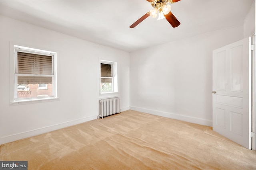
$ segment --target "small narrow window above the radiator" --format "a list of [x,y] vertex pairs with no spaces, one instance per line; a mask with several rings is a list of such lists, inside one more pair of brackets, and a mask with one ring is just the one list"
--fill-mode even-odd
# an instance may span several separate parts
[[117,92],[117,63],[100,61],[100,93]]

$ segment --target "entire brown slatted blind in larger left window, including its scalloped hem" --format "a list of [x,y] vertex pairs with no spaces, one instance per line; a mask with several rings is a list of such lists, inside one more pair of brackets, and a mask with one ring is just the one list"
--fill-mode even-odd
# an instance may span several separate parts
[[18,52],[18,84],[52,84],[52,76],[25,76],[24,74],[52,75],[52,56]]

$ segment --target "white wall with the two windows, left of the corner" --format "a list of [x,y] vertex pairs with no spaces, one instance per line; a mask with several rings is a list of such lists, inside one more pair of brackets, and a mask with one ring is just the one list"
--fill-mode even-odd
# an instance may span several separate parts
[[[56,51],[59,100],[9,102],[9,45]],[[0,144],[96,119],[99,58],[118,63],[121,110],[129,109],[130,54],[0,16]],[[115,95],[116,96],[116,95]]]

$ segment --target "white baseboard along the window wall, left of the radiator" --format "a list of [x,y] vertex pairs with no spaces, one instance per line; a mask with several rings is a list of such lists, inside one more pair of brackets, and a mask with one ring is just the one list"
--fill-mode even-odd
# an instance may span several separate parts
[[4,143],[13,142],[13,141],[18,141],[20,139],[24,139],[24,138],[27,138],[27,137],[40,135],[40,134],[47,133],[47,132],[50,132],[50,131],[55,131],[55,130],[58,130],[58,129],[62,129],[64,127],[77,125],[79,123],[84,123],[86,121],[90,121],[90,120],[94,120],[94,119],[97,119],[97,115],[90,116],[90,117],[84,117],[84,118],[81,118],[81,119],[76,119],[76,120],[73,120],[73,121],[68,121],[68,122],[64,122],[64,123],[60,123],[60,124],[52,125],[52,126],[48,126],[48,127],[42,127],[40,129],[34,129],[34,130],[31,130],[31,131],[17,133],[17,134],[9,135],[9,136],[6,136],[6,137],[1,137],[0,138],[0,145],[4,144]]

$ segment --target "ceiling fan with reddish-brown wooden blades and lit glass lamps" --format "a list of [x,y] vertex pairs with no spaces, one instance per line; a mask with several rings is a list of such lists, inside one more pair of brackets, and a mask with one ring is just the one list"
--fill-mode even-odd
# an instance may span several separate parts
[[139,23],[141,23],[143,20],[148,18],[148,16],[152,16],[153,18],[156,18],[157,14],[158,14],[158,20],[165,18],[172,25],[172,27],[178,27],[180,25],[180,22],[170,11],[171,10],[170,4],[173,4],[180,0],[147,0],[147,1],[150,2],[151,6],[154,9],[150,10],[144,16],[142,16],[140,19],[134,22],[130,26],[130,28],[136,27]]

